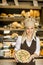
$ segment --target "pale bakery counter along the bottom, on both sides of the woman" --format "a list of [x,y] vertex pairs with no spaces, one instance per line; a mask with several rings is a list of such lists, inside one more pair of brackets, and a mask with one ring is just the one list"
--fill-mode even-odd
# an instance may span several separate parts
[[[37,57],[33,60],[35,65],[43,65],[43,57]],[[0,57],[0,65],[17,65],[14,58],[4,58]]]

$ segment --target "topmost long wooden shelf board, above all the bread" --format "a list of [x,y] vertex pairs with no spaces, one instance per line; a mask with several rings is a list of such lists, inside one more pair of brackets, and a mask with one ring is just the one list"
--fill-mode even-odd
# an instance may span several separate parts
[[41,7],[37,7],[37,6],[14,6],[14,5],[0,5],[0,8],[15,8],[15,9],[41,9]]

